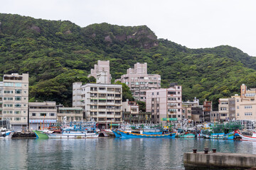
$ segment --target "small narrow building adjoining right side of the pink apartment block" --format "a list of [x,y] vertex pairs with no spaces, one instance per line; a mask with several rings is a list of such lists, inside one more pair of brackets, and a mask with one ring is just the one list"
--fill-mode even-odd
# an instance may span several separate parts
[[182,119],[191,120],[191,108],[199,106],[199,100],[195,97],[193,101],[182,102]]

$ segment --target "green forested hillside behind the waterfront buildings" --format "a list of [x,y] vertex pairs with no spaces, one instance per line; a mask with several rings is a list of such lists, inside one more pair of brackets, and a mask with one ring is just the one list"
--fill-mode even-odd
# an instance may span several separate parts
[[218,106],[218,98],[239,94],[240,85],[256,86],[256,60],[235,47],[189,49],[157,39],[146,26],[108,23],[85,28],[70,21],[46,21],[0,13],[0,77],[29,73],[30,101],[72,105],[72,83],[92,82],[97,60],[110,60],[114,79],[136,62],[161,75],[161,86],[183,86],[183,101],[195,96]]

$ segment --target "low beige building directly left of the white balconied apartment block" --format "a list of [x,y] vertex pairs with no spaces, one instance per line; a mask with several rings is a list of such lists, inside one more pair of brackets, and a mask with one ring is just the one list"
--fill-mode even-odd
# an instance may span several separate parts
[[80,122],[83,120],[82,108],[58,108],[58,122]]

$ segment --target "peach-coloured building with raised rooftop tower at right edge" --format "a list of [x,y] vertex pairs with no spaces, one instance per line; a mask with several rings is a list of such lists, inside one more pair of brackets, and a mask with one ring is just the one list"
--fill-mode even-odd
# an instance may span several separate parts
[[241,96],[235,98],[235,118],[237,120],[256,120],[256,89],[247,89],[245,84],[241,86]]

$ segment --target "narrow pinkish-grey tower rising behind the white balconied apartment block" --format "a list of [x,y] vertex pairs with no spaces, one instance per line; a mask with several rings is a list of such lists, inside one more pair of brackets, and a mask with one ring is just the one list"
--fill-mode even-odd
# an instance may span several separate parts
[[97,61],[88,77],[95,77],[97,84],[111,84],[110,61]]

